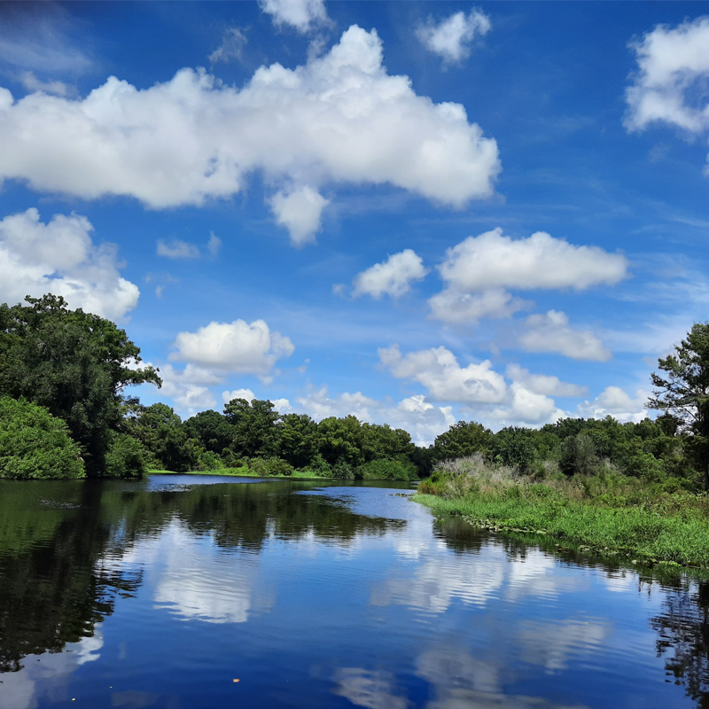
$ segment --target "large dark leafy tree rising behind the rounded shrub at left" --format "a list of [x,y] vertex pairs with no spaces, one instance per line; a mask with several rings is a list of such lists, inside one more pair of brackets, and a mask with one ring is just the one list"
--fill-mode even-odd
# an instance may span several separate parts
[[100,475],[125,388],[160,386],[158,372],[136,366],[140,349],[110,320],[70,310],[60,296],[25,300],[0,305],[0,395],[25,397],[64,419],[87,471]]

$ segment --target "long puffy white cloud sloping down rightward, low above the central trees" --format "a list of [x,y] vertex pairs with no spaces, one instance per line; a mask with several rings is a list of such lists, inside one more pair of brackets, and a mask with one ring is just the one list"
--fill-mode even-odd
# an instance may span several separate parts
[[489,360],[461,367],[446,347],[411,352],[402,356],[399,347],[380,348],[379,359],[396,378],[414,379],[426,387],[434,401],[463,403],[502,402],[507,384],[492,369]]

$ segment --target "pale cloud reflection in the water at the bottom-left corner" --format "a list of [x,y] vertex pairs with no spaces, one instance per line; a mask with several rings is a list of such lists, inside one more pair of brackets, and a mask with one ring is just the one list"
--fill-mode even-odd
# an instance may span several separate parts
[[[79,643],[68,643],[63,652],[27,655],[19,672],[2,674],[0,706],[3,709],[33,709],[41,685],[51,700],[66,698],[66,679],[74,670],[100,657],[104,646],[103,629],[97,623],[94,635]],[[39,661],[37,661],[39,660]],[[71,698],[71,697],[69,697]]]

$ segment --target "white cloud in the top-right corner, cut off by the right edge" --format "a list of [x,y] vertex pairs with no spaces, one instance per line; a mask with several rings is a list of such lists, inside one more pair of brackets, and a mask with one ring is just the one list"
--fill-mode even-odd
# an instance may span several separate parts
[[692,133],[709,129],[709,17],[658,25],[633,43],[638,71],[626,91],[626,127],[663,122]]

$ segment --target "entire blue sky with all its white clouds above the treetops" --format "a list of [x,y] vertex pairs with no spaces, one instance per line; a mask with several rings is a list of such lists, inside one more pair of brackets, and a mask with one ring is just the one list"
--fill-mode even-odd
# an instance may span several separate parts
[[646,415],[707,319],[693,3],[0,5],[0,300],[431,441]]

